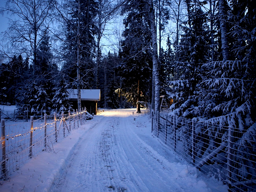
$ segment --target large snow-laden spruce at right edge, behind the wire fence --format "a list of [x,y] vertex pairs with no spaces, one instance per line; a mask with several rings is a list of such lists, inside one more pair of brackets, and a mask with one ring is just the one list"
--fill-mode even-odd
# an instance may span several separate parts
[[[240,15],[227,20],[227,15],[230,16],[238,7],[243,8]],[[208,119],[207,122],[244,130],[255,122],[255,8],[249,2],[245,5],[234,3],[230,12],[227,2],[221,0],[219,9],[222,51],[217,61],[205,64],[208,70],[202,82],[200,105],[206,110],[201,114]],[[228,23],[232,26],[227,26]]]

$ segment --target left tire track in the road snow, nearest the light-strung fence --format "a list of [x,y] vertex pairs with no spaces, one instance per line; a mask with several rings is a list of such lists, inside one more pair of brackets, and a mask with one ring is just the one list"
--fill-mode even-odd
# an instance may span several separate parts
[[[99,182],[98,162],[98,143],[101,133],[106,124],[104,117],[101,123],[94,126],[82,138],[75,147],[74,152],[69,158],[63,174],[52,187],[52,192],[65,191],[101,191]],[[96,170],[95,170],[96,168]]]

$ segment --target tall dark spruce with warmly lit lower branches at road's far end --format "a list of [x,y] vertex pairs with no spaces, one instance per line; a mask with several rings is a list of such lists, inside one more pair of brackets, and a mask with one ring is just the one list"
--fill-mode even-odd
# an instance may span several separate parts
[[121,58],[118,67],[122,79],[122,91],[128,101],[136,104],[136,113],[141,113],[139,101],[145,101],[149,90],[151,65],[151,34],[148,22],[147,2],[127,1],[124,12],[125,30],[123,32]]

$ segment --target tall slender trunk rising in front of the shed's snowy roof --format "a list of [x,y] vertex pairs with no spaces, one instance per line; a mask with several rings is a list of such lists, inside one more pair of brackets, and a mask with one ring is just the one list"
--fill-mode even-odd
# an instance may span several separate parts
[[77,24],[77,105],[78,111],[82,108],[81,106],[81,87],[80,87],[80,0],[78,0],[78,24]]

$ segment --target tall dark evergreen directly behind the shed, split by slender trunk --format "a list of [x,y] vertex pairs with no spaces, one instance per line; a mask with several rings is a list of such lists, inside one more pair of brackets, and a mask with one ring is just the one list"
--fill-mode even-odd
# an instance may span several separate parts
[[[94,52],[96,27],[94,26],[94,18],[96,16],[97,2],[94,0],[80,0],[79,12],[79,70],[80,70],[80,85],[82,88],[94,87]],[[66,60],[63,66],[63,72],[68,76],[68,81],[72,82],[70,88],[77,86],[77,69],[78,69],[78,2],[69,1],[67,4],[70,12],[70,18],[66,24],[66,40],[64,59]]]

